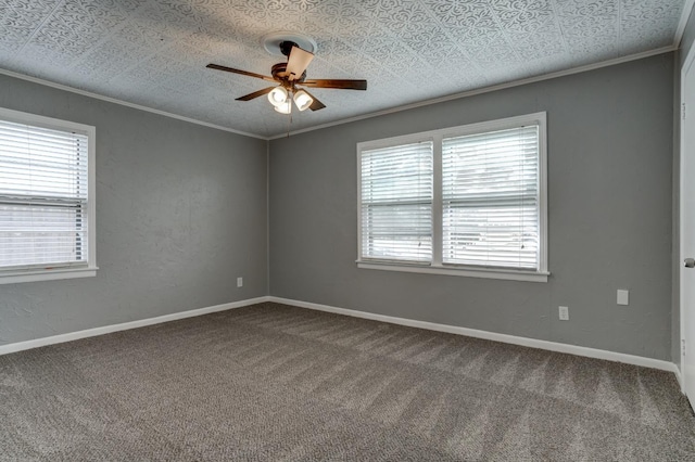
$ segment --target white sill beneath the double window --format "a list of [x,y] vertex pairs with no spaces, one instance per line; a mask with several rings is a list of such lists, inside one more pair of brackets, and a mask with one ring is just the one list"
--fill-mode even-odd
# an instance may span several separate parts
[[357,268],[382,271],[419,272],[424,274],[459,275],[466,278],[502,279],[507,281],[547,282],[549,272],[529,272],[501,269],[470,269],[456,267],[433,267],[421,265],[397,265],[384,261],[357,260]]

